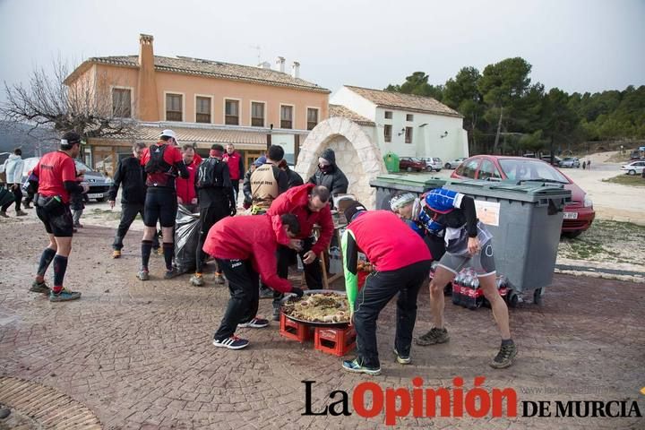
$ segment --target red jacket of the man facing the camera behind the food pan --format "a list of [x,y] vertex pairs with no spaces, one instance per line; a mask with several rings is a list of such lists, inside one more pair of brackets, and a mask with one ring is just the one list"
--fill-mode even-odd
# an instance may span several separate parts
[[285,213],[296,215],[300,223],[300,234],[297,236],[299,239],[311,236],[314,224],[318,224],[321,227],[321,235],[312,247],[314,254],[318,255],[329,246],[334,228],[329,204],[318,212],[309,211],[307,207],[309,193],[314,186],[316,185],[305,184],[289,188],[271,203],[271,208],[267,213],[269,215],[284,215]]

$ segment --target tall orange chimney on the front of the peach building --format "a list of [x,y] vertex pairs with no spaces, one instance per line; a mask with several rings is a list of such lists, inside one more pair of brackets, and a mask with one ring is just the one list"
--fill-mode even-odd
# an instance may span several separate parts
[[154,38],[149,34],[139,35],[139,79],[136,106],[138,107],[138,117],[142,121],[159,121],[152,40]]

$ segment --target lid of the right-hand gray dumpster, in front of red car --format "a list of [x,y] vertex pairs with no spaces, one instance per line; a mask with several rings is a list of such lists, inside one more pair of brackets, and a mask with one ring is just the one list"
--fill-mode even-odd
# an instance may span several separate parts
[[449,179],[445,188],[459,193],[486,197],[517,200],[520,202],[539,202],[549,198],[571,200],[571,191],[563,186],[544,181],[482,181],[478,179]]

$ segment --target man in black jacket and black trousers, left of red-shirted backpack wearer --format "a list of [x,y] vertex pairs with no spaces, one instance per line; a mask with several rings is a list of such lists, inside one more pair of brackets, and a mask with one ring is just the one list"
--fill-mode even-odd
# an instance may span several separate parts
[[[134,143],[133,156],[119,161],[116,168],[114,183],[109,191],[109,204],[110,208],[115,207],[116,193],[120,185],[123,185],[121,192],[121,221],[118,228],[116,228],[116,236],[114,244],[112,244],[113,258],[121,256],[121,249],[123,248],[123,239],[128,229],[132,225],[137,214],[141,214],[143,218],[143,202],[145,202],[145,182],[143,180],[143,166],[141,165],[142,150],[145,149],[145,144],[142,142]],[[159,248],[159,238],[157,235],[153,237],[155,249]]]

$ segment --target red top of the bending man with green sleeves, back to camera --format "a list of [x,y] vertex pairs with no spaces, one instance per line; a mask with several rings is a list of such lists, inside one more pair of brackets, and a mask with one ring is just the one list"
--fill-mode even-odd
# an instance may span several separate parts
[[[432,260],[423,239],[391,211],[367,211],[350,222],[348,230],[377,271],[396,271],[415,262]],[[343,249],[345,253],[351,251]]]

